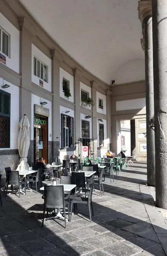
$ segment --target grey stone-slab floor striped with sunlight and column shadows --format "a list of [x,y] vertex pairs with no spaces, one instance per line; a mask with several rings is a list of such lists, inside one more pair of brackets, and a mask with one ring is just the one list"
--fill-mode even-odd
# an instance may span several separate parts
[[[146,164],[134,163],[114,182],[106,177],[104,194],[93,192],[93,221],[88,205],[78,205],[64,228],[63,221],[45,221],[41,229],[41,192],[1,192],[0,256],[165,256],[167,219],[154,207],[147,187]],[[166,253],[166,254],[165,254]]]

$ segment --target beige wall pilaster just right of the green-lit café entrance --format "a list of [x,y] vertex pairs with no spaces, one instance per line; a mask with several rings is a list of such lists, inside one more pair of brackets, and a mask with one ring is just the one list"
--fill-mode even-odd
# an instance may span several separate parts
[[59,69],[63,60],[62,55],[55,49],[51,51],[52,59],[52,145],[50,162],[57,161],[60,153],[60,85],[59,85]]

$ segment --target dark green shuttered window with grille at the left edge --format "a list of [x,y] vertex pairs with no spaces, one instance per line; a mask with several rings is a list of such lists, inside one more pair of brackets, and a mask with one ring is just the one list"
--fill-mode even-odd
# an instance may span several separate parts
[[0,148],[10,148],[11,95],[0,90]]

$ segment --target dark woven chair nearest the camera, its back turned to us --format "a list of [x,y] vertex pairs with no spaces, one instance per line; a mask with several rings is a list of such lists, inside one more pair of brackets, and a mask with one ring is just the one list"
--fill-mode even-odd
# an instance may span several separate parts
[[[43,208],[43,218],[42,218],[42,227],[45,218],[45,210],[46,220],[48,220],[48,209],[63,209],[64,211],[64,219],[65,219],[65,228],[66,228],[66,217],[65,217],[65,196],[64,196],[64,187],[62,186],[44,186],[44,208]],[[68,204],[69,207],[69,204]],[[69,209],[68,209],[69,212]]]

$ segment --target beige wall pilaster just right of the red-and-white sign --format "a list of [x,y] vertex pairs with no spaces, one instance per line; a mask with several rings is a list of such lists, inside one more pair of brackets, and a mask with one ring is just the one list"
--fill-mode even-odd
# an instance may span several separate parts
[[95,82],[95,81],[91,81],[91,87],[92,87],[92,99],[95,103],[95,105],[92,107],[92,139],[93,139],[93,143],[91,143],[91,150],[93,150],[92,152],[94,153],[93,156],[94,159],[96,159],[97,157],[97,136],[99,134],[99,131],[97,131],[97,104],[96,104],[96,91],[99,87],[99,85]]

